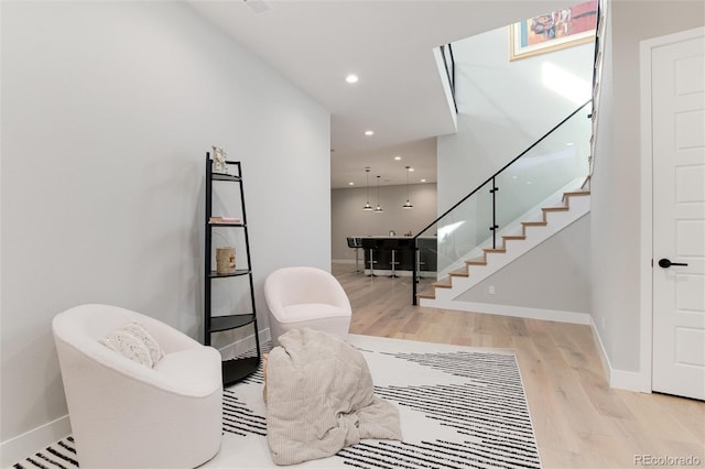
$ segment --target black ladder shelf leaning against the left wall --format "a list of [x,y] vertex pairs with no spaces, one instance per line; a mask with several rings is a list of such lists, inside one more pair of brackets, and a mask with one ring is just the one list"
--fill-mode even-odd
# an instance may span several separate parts
[[[239,161],[226,161],[228,173],[214,173],[210,154],[206,153],[206,210],[205,210],[205,293],[204,293],[204,343],[210,345],[212,335],[225,330],[238,329],[246,326],[253,328],[254,341],[257,343],[257,355],[242,358],[234,358],[223,361],[223,384],[228,386],[254,372],[260,364],[261,349],[257,328],[257,309],[254,307],[254,283],[252,280],[252,264],[250,262],[250,239],[247,230],[247,215],[245,211],[245,188],[242,187],[242,170]],[[216,183],[220,182],[220,183]],[[216,183],[216,184],[214,184]],[[240,188],[240,210],[241,220],[214,221],[213,217],[213,193],[214,185],[235,183]],[[237,269],[235,272],[218,273],[213,269],[213,230],[214,227],[239,230],[245,238],[246,268]],[[229,280],[228,280],[229,279]],[[213,296],[212,290],[215,282],[237,282],[247,279],[250,287],[250,309],[245,312],[231,312],[226,316],[212,316]]]

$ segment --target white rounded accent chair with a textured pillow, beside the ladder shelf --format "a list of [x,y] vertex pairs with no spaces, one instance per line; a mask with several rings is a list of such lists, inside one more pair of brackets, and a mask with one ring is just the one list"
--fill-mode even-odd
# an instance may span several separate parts
[[[154,368],[99,342],[131,321],[164,351]],[[108,305],[59,313],[52,328],[82,468],[193,468],[218,452],[223,372],[216,349]]]

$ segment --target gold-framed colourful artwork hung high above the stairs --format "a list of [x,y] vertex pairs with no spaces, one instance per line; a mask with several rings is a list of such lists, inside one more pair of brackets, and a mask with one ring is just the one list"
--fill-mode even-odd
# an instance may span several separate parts
[[509,26],[509,59],[595,41],[598,0],[529,18]]

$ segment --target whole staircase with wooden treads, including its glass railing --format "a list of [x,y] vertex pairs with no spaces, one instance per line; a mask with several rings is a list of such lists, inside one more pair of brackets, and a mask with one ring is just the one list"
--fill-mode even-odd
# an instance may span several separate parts
[[[589,211],[590,102],[414,236],[412,304],[473,310],[466,292]],[[435,283],[416,282],[422,264]]]

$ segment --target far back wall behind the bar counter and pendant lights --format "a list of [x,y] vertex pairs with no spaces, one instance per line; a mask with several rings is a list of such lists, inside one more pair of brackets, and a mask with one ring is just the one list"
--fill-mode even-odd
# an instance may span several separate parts
[[[387,236],[390,230],[397,236],[409,231],[417,234],[435,220],[435,184],[410,184],[409,198],[414,207],[401,208],[406,201],[406,186],[381,186],[379,203],[384,211],[375,214],[362,210],[367,200],[365,187],[332,190],[333,261],[355,262],[355,250],[348,248],[347,237]],[[377,186],[370,186],[370,205],[377,207]],[[362,252],[359,257],[362,260]]]

